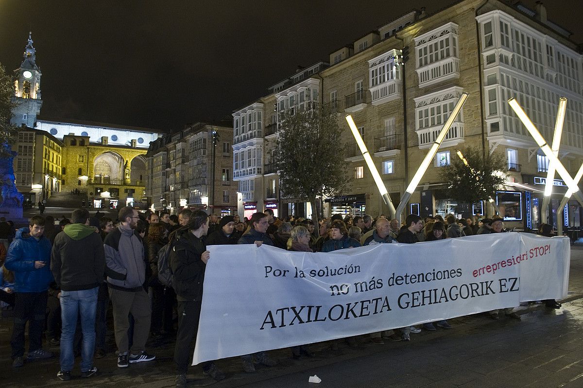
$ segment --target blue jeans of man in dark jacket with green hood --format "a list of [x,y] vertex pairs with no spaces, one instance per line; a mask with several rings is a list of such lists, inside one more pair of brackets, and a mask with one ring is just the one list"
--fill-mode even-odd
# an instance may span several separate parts
[[93,368],[95,348],[95,315],[99,287],[90,290],[61,291],[61,371],[70,372],[75,365],[73,339],[77,317],[81,317],[81,371]]

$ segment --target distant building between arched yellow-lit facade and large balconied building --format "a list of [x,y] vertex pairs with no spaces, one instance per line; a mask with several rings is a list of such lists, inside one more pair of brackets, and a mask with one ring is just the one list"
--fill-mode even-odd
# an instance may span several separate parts
[[236,213],[232,139],[232,123],[226,121],[195,123],[153,141],[146,155],[150,208]]

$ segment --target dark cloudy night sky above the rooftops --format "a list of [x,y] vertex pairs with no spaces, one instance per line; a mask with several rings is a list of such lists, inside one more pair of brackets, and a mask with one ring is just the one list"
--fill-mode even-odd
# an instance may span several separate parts
[[[547,14],[583,42],[573,19],[583,1],[570,2],[547,0]],[[20,66],[31,30],[41,116],[170,131],[230,118],[298,65],[328,60],[413,8],[433,13],[451,3],[0,0],[0,63],[9,72]]]

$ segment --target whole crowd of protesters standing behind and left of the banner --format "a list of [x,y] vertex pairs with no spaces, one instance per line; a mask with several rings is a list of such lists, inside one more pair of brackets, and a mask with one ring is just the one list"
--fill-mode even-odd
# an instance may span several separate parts
[[[29,226],[17,231],[0,218],[0,300],[14,312],[12,365],[24,365],[28,323],[27,362],[54,357],[43,349],[45,333],[48,344],[60,347],[59,379],[71,379],[76,355],[81,357],[81,377],[93,376],[97,372],[93,359],[107,353],[111,305],[117,366],[153,361],[156,356],[146,351],[147,340],[175,337],[175,385],[182,388],[187,385],[191,343],[198,330],[205,267],[212,259],[208,245],[266,244],[290,251],[332,252],[505,232],[501,218],[457,219],[452,214],[445,219],[411,214],[402,224],[384,215],[374,219],[333,215],[319,220],[318,226],[316,233],[310,219],[279,219],[271,209],[243,220],[238,215],[219,218],[189,209],[178,215],[158,215],[130,207],[120,209],[113,220],[103,213],[92,217],[86,209],[76,209],[70,219],[58,222],[52,216],[33,216]],[[539,234],[552,236],[552,226],[542,224]],[[163,273],[170,273],[170,278]],[[560,307],[554,300],[544,302],[549,308]],[[519,319],[512,308],[489,314],[498,319],[501,312]],[[371,333],[370,340],[375,344],[387,339],[409,341],[411,333],[437,328],[452,326],[445,320],[428,322],[422,328]],[[355,337],[346,342],[358,346]],[[339,343],[331,341],[331,348],[338,348]],[[291,355],[313,357],[314,352],[305,344],[291,348]],[[254,364],[277,364],[263,351],[241,356],[241,363],[248,373],[255,372]],[[214,362],[201,366],[211,378],[224,379]]]

